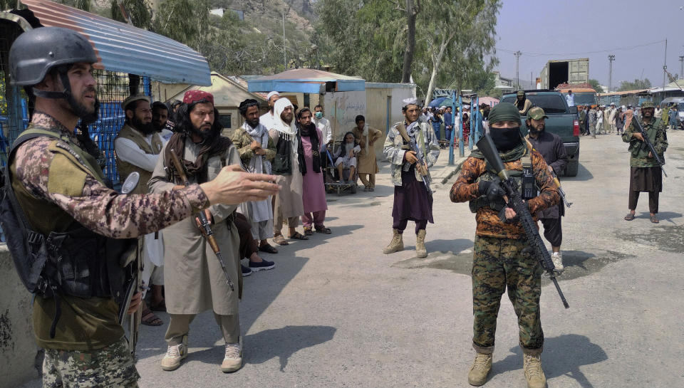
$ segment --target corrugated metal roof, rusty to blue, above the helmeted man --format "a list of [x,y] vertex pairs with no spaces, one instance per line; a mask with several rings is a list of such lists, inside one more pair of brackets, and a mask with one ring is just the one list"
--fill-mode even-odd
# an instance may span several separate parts
[[173,39],[52,1],[21,2],[43,26],[83,33],[106,70],[172,83],[212,84],[206,58]]

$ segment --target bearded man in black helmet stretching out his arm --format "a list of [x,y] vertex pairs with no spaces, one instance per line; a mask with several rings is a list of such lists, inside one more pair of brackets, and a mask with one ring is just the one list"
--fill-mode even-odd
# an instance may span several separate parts
[[[19,214],[42,236],[41,241],[53,236],[53,232],[78,231],[88,238],[69,236],[80,238],[77,242],[97,244],[99,249],[100,243],[163,229],[209,204],[238,204],[276,192],[274,184],[254,182],[275,177],[229,168],[212,182],[162,194],[120,195],[107,187],[99,165],[73,133],[79,119],[92,122],[98,117],[92,75],[97,61],[86,38],[67,28],[27,31],[14,41],[9,53],[12,84],[24,86],[35,98],[31,124],[21,136],[36,137],[15,142],[9,157],[10,176],[6,179],[10,179],[11,192],[19,203]],[[247,187],[237,190],[242,184]],[[16,231],[6,233],[17,236]],[[90,255],[90,245],[74,246],[64,241],[56,247],[54,243],[48,241],[60,256],[49,256],[51,268],[60,274],[71,273],[83,284],[98,284],[98,291],[110,293],[77,296],[69,293],[74,289],[69,278],[62,278],[59,283],[47,283],[55,298],[36,295],[33,331],[38,346],[46,350],[43,387],[137,387],[138,372],[118,321],[120,306],[112,291],[118,285],[111,279],[105,285],[101,273],[76,271],[75,266],[66,265],[86,264],[86,269],[97,265],[94,268],[103,269],[106,279],[108,273],[117,271],[109,265],[119,263],[119,258],[108,261],[102,256],[109,255],[100,250]],[[81,255],[83,251],[88,253],[87,258]],[[41,276],[54,278],[45,272]],[[128,313],[135,311],[139,303],[140,293]]]

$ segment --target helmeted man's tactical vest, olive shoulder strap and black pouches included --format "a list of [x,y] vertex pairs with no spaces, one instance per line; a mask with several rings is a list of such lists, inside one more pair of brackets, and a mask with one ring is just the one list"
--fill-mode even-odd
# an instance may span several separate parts
[[[16,271],[28,291],[55,300],[56,316],[50,329],[50,337],[53,338],[61,315],[60,295],[115,298],[121,305],[125,283],[132,271],[131,268],[123,268],[123,263],[130,262],[130,256],[136,253],[137,240],[107,238],[96,234],[56,204],[36,199],[26,191],[24,185],[12,182],[10,167],[16,149],[36,137],[58,139],[51,143],[51,152],[65,155],[103,184],[105,177],[95,158],[81,150],[71,139],[40,127],[28,127],[9,152],[2,176],[4,182],[0,185],[0,223]],[[42,216],[28,219],[26,214]],[[57,217],[61,231],[46,231],[44,224],[41,227],[46,215]]]

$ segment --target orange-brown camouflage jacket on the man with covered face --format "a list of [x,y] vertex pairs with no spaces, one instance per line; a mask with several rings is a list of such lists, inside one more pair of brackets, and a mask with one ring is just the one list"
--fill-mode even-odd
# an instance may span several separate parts
[[[522,159],[504,162],[504,168],[511,171],[522,171]],[[558,204],[560,196],[554,179],[549,174],[549,169],[544,162],[544,157],[537,151],[532,151],[532,170],[539,187],[539,195],[527,201],[529,211],[537,221],[537,212]],[[451,187],[450,199],[452,202],[465,202],[477,199],[480,196],[477,178],[487,172],[487,162],[484,159],[468,157],[463,162],[461,172],[456,182]],[[499,220],[499,212],[489,208],[480,207],[475,215],[477,221],[477,236],[496,238],[524,238],[525,232],[519,222],[504,223]]]

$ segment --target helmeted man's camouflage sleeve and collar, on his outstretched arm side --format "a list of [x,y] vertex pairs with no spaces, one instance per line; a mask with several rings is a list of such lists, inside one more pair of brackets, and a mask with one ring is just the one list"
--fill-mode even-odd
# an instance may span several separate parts
[[[163,229],[209,206],[207,195],[196,184],[162,194],[119,195],[59,151],[80,147],[70,130],[42,112],[33,115],[31,125],[53,130],[69,141],[36,137],[16,150],[14,179],[31,195],[22,207],[31,206],[31,201],[48,202],[95,233],[132,238]],[[52,147],[55,143],[60,147]],[[76,184],[62,184],[65,177]],[[48,229],[57,231],[61,226]]]

